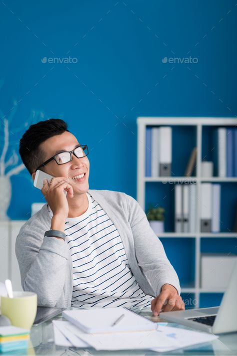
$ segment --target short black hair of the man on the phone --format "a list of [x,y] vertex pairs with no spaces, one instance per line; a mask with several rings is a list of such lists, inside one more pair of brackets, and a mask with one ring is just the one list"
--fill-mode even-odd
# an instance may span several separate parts
[[[45,152],[39,147],[40,143],[64,131],[68,131],[67,123],[61,119],[39,121],[25,131],[20,139],[19,154],[30,175],[45,160]],[[44,170],[44,167],[40,169]]]

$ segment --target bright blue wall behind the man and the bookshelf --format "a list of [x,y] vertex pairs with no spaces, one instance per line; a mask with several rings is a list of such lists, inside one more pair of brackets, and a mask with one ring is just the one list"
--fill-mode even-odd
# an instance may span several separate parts
[[[1,2],[1,124],[18,102],[8,156],[31,110],[60,117],[90,149],[90,188],[135,197],[137,116],[236,115],[235,3]],[[77,63],[41,62],[68,56]],[[189,56],[198,62],[161,62]],[[8,216],[28,219],[42,195],[26,169],[11,183]]]

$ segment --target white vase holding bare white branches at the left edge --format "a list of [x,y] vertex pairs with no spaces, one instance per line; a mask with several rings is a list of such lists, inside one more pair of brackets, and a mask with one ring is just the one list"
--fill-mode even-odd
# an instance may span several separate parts
[[9,177],[0,176],[0,220],[9,220],[6,215],[11,198],[11,184]]

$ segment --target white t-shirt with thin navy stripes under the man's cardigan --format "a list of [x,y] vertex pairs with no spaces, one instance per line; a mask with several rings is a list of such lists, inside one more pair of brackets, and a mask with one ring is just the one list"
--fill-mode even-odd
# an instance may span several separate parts
[[[117,229],[90,194],[86,196],[87,211],[65,220],[73,268],[71,306],[149,307],[153,298],[137,284]],[[52,217],[49,206],[48,213]]]

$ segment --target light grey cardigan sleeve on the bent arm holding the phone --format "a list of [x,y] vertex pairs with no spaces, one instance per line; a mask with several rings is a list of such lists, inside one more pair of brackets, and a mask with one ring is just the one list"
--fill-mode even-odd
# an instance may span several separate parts
[[39,226],[22,226],[15,254],[23,290],[36,293],[39,306],[54,307],[63,293],[68,247],[54,237],[43,237],[44,232]]

